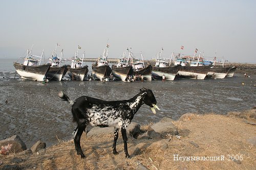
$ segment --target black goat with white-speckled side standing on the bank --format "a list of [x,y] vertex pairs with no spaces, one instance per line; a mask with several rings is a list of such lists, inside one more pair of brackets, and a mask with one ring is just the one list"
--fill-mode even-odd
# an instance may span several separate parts
[[125,157],[129,158],[126,128],[130,125],[134,114],[143,104],[150,106],[154,114],[156,114],[155,108],[159,110],[152,90],[145,88],[140,89],[140,92],[132,99],[123,101],[102,101],[90,96],[80,96],[72,101],[62,91],[58,93],[58,96],[72,105],[73,120],[77,123],[77,128],[73,133],[75,150],[81,158],[85,156],[81,150],[80,137],[89,123],[98,127],[114,127],[113,154],[115,155],[118,154],[116,141],[121,128]]

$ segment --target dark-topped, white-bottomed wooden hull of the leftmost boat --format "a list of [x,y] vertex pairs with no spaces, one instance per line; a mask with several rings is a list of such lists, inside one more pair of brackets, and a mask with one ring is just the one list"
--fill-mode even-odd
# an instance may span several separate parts
[[21,79],[35,81],[44,81],[44,78],[50,69],[50,64],[27,66],[15,62],[13,66]]

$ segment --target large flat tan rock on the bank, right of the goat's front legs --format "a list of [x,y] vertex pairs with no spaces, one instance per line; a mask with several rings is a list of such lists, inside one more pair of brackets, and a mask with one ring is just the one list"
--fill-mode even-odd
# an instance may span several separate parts
[[168,138],[168,134],[169,135],[178,135],[178,130],[177,128],[173,125],[172,122],[166,122],[165,121],[166,118],[164,118],[161,122],[158,122],[156,124],[153,124],[151,126],[151,128],[156,131],[157,133],[159,133],[162,137],[164,138]]

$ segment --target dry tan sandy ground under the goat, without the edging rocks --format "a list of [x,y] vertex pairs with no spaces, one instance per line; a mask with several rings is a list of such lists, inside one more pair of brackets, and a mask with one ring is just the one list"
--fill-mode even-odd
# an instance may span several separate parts
[[[248,139],[256,137],[256,127],[246,124],[244,119],[206,114],[173,123],[179,129],[180,139],[175,136],[161,140],[129,137],[131,159],[124,158],[121,137],[117,141],[120,154],[113,155],[113,135],[83,136],[81,146],[86,159],[76,155],[71,140],[37,154],[0,156],[3,162],[0,168],[15,164],[23,169],[138,169],[141,166],[148,169],[255,169],[256,149]],[[135,154],[138,149],[139,155]],[[238,160],[232,160],[236,156]],[[189,160],[183,160],[184,157]],[[200,160],[195,160],[197,157]],[[210,157],[219,157],[219,160],[209,160]]]

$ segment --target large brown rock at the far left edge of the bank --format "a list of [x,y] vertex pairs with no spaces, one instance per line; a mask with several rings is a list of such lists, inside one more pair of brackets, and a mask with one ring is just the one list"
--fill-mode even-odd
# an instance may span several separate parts
[[26,144],[20,139],[18,135],[13,135],[10,138],[0,141],[0,147],[11,145],[10,153],[19,153],[27,150]]

